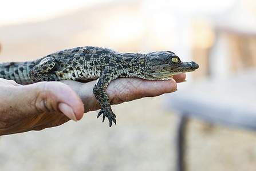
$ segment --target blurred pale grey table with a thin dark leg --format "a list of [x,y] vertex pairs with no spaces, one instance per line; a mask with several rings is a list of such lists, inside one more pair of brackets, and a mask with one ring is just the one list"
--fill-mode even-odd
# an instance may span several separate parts
[[177,131],[178,170],[184,170],[186,120],[194,117],[211,124],[256,131],[256,70],[229,79],[208,79],[166,96],[166,106],[180,114]]

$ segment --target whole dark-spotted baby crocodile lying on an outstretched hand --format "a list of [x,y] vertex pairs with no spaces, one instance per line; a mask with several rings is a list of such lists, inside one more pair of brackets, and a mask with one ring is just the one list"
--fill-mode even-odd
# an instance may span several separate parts
[[88,82],[99,79],[93,94],[103,114],[116,124],[116,115],[111,109],[105,89],[116,78],[141,78],[168,80],[173,75],[194,71],[195,62],[182,62],[171,51],[155,51],[148,54],[119,53],[108,48],[83,46],[58,51],[41,59],[29,62],[0,63],[0,78],[11,79],[19,84],[42,81],[76,80]]

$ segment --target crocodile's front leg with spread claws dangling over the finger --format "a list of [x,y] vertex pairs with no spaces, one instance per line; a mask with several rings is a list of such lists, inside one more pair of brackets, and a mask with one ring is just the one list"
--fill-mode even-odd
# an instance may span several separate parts
[[105,120],[105,117],[107,117],[108,121],[109,121],[109,127],[112,126],[112,121],[113,121],[113,123],[116,124],[116,115],[115,115],[115,113],[113,113],[113,111],[111,109],[108,95],[105,90],[106,90],[108,84],[111,82],[111,80],[117,78],[117,76],[114,76],[114,75],[116,75],[116,74],[109,73],[109,70],[104,71],[103,74],[101,74],[98,82],[93,87],[93,94],[101,106],[101,109],[97,115],[97,118],[99,118],[100,115],[103,114],[103,122]]

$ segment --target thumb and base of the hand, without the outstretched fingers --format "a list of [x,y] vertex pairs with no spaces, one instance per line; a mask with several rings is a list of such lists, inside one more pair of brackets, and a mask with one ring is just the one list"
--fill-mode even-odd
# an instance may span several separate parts
[[21,86],[0,79],[0,96],[0,135],[55,127],[84,113],[77,93],[60,82]]

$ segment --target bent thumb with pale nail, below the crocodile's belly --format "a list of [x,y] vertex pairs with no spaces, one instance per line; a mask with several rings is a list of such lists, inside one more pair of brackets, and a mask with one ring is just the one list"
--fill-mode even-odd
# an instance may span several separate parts
[[76,92],[60,82],[40,82],[27,86],[17,86],[20,110],[26,115],[42,112],[62,112],[72,120],[80,120],[84,104]]

